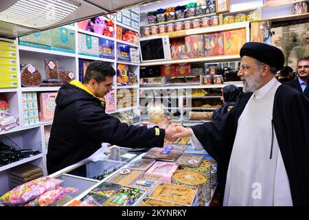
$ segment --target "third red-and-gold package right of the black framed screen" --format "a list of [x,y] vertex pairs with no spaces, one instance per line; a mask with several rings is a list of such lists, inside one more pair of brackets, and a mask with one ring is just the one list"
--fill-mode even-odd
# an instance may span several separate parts
[[205,56],[221,56],[224,54],[224,34],[215,32],[204,34]]

